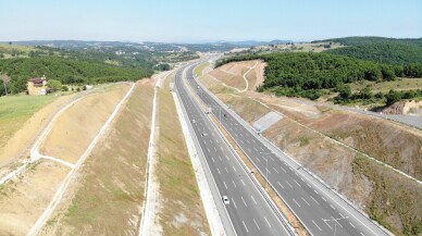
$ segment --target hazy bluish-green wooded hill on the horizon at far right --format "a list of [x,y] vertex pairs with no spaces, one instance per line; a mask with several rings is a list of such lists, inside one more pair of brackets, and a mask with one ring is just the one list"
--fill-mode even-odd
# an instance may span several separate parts
[[331,54],[348,55],[386,64],[422,63],[422,38],[347,37],[314,42],[338,42],[347,46],[325,51],[325,53]]

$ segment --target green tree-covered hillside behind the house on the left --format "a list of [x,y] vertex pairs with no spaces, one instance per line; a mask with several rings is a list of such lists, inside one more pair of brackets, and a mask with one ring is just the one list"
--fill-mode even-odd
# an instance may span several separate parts
[[8,90],[16,94],[26,89],[28,78],[42,75],[46,75],[47,79],[58,79],[63,84],[96,84],[136,80],[151,75],[152,71],[57,57],[39,57],[0,60],[0,74],[11,77],[11,82],[7,84]]

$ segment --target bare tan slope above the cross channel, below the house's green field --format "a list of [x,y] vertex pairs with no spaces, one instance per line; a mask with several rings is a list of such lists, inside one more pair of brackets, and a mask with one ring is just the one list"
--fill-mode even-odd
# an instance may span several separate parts
[[75,163],[129,88],[125,84],[117,86],[122,89],[91,95],[67,109],[57,120],[40,153]]

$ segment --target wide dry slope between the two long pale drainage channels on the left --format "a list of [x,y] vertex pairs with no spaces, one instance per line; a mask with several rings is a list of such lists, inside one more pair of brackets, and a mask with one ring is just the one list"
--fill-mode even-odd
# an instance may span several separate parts
[[153,87],[136,85],[40,235],[137,235]]

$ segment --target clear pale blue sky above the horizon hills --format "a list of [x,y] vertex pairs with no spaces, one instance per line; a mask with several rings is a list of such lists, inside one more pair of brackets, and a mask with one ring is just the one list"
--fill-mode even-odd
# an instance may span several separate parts
[[0,41],[422,37],[422,0],[0,0]]

